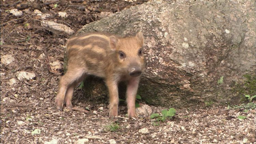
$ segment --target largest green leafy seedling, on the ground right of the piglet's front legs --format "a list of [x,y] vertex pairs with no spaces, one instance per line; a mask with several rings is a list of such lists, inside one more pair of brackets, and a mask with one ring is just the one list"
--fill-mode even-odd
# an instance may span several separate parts
[[174,108],[170,108],[169,111],[166,109],[161,111],[161,115],[158,113],[153,113],[150,115],[150,118],[156,118],[155,122],[153,125],[159,125],[160,121],[165,121],[168,118],[172,118],[176,114],[176,110]]

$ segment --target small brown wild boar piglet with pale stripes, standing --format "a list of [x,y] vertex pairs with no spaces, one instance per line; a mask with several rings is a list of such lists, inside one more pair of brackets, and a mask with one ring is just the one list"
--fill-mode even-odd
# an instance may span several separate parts
[[[128,115],[137,117],[135,98],[139,75],[145,67],[143,54],[140,53],[143,45],[144,38],[141,32],[134,37],[125,38],[110,33],[86,33],[69,39],[67,42],[68,71],[60,78],[55,100],[57,109],[62,110],[64,104],[69,109],[72,108],[74,87],[86,75],[91,74],[105,79],[109,89],[111,118],[117,116],[119,101],[117,85],[120,81],[127,81]],[[134,69],[139,73],[136,76],[131,75]]]

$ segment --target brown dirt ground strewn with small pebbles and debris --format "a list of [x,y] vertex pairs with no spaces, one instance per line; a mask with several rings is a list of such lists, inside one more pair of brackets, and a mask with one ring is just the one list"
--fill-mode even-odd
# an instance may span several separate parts
[[[58,34],[41,26],[45,20],[65,24],[74,31],[101,19],[101,12],[118,12],[146,0],[1,0],[1,58],[11,55],[10,64],[1,61],[1,143],[256,143],[256,110],[198,106],[177,109],[176,116],[155,125],[149,117],[108,118],[108,102],[73,100],[73,111],[57,111],[54,105],[59,76],[63,74],[65,44],[71,35]],[[56,5],[57,4],[57,5]],[[14,16],[10,10],[23,12]],[[67,12],[61,17],[58,12]],[[54,69],[53,62],[61,67]],[[18,80],[18,72],[35,74],[31,80]],[[16,82],[12,83],[12,80]],[[81,95],[77,88],[74,95]],[[143,97],[143,96],[142,96]],[[122,107],[122,106],[121,106]],[[123,106],[124,107],[124,106]],[[174,107],[175,108],[175,107]],[[88,111],[86,111],[87,109]],[[156,107],[159,112],[164,107]],[[238,116],[246,116],[238,119]],[[108,126],[118,124],[119,129]],[[144,129],[145,128],[145,129]],[[144,130],[144,131],[143,131]]]

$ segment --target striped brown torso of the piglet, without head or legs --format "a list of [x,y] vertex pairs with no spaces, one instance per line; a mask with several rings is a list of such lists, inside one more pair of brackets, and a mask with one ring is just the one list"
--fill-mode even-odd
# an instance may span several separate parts
[[104,77],[106,61],[110,58],[108,33],[86,33],[75,36],[67,42],[69,65],[80,65],[86,68],[88,74]]

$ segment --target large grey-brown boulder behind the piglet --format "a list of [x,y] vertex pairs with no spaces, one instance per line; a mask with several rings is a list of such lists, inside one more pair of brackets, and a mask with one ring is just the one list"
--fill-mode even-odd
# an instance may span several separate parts
[[[138,93],[149,104],[183,107],[244,97],[236,87],[243,88],[244,74],[255,76],[255,27],[255,1],[152,0],[87,24],[78,34],[142,31],[147,68]],[[108,93],[102,80],[87,80],[86,96]]]

